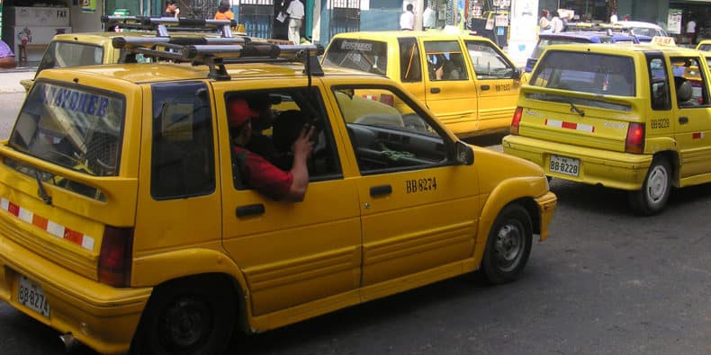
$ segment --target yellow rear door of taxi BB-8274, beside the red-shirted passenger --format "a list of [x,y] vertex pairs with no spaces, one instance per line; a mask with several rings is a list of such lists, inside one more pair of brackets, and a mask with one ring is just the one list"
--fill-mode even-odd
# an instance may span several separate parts
[[[213,84],[220,129],[223,245],[247,282],[251,314],[274,314],[268,321],[272,325],[302,319],[316,308],[358,302],[361,227],[356,183],[343,177],[319,84],[314,80],[311,93],[306,79],[270,80],[269,90],[242,85],[235,91],[234,82]],[[247,147],[285,171],[291,169],[291,161],[284,161],[290,159],[291,144],[284,141],[288,134],[277,136],[277,131],[290,131],[284,126],[289,122],[300,130],[305,122],[317,120],[319,144],[311,156],[311,179],[302,202],[273,200],[240,175],[238,159],[231,160],[225,119],[226,102],[235,98],[268,101],[275,111],[274,127],[252,138],[262,143]],[[259,124],[252,120],[257,129]]]

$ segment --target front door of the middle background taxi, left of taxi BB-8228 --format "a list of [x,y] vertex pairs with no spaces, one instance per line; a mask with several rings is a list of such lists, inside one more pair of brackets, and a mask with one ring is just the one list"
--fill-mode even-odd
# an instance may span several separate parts
[[514,78],[516,67],[489,41],[465,40],[465,44],[479,97],[478,129],[506,129],[516,110],[521,85]]

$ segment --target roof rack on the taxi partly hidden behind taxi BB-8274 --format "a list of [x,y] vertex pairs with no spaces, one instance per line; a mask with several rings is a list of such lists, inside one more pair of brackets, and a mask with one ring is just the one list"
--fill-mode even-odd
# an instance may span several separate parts
[[175,17],[148,16],[110,16],[103,15],[101,21],[106,24],[106,31],[137,30],[156,31],[158,37],[167,37],[168,31],[217,32],[221,37],[230,38],[235,20],[186,19]]

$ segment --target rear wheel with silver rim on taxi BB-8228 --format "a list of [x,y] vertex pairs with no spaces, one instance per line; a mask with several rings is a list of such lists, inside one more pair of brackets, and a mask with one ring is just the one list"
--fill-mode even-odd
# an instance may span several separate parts
[[652,216],[667,205],[671,193],[671,164],[655,157],[644,177],[642,189],[629,192],[630,207],[643,216]]

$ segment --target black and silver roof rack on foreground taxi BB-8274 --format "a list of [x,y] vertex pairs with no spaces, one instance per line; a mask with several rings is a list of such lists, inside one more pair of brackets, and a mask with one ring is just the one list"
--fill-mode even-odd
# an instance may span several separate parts
[[242,37],[116,37],[112,40],[112,45],[115,49],[124,49],[144,57],[190,62],[193,66],[208,66],[209,77],[215,80],[229,80],[225,65],[237,63],[302,63],[310,84],[311,75],[323,75],[316,58],[324,52],[320,44],[280,45]]

